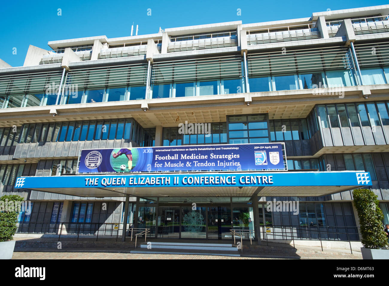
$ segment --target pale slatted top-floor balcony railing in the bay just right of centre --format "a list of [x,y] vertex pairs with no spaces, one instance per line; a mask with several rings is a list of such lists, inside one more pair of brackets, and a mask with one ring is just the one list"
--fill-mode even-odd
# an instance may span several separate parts
[[272,32],[269,29],[267,29],[267,32],[266,30],[258,31],[258,29],[248,30],[247,44],[259,45],[259,44],[268,44],[268,43],[277,43],[277,42],[320,39],[321,35],[319,29],[313,28],[314,25],[315,24],[304,24],[304,25],[278,27],[277,30],[284,30],[284,31],[274,31],[274,32]]

